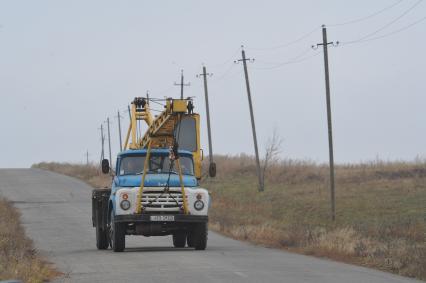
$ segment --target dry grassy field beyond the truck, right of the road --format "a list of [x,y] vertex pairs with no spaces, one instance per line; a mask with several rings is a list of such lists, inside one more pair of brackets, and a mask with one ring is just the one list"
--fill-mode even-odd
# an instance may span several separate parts
[[[257,192],[248,156],[216,156],[218,175],[202,180],[213,197],[210,228],[236,239],[374,267],[426,280],[426,162],[336,167],[336,221],[330,220],[328,167],[279,161]],[[94,167],[35,167],[106,186]],[[207,167],[207,166],[205,166]]]

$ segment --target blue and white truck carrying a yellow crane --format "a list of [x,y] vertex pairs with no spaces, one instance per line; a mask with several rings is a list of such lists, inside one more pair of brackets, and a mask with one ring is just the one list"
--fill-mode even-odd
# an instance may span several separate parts
[[[154,117],[152,101],[156,100],[132,101],[129,129],[115,167],[107,159],[101,162],[112,183],[111,188],[92,191],[96,246],[122,252],[128,235],[172,235],[176,248],[205,250],[211,200],[199,186],[199,114],[193,113],[191,98],[167,98],[162,100],[164,110]],[[142,135],[143,122],[148,128]]]

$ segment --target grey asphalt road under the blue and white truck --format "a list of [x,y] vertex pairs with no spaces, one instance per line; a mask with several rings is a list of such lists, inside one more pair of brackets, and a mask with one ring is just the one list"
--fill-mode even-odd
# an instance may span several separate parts
[[22,212],[27,234],[65,275],[57,282],[418,282],[367,268],[256,247],[210,232],[207,250],[171,237],[127,236],[123,253],[99,251],[91,188],[37,169],[1,169],[0,196]]

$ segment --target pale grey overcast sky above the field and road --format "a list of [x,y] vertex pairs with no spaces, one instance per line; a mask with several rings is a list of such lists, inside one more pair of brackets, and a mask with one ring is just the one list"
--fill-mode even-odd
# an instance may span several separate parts
[[[181,69],[191,82],[185,96],[195,97],[202,115],[207,152],[202,81],[195,77],[202,63],[214,74],[214,152],[252,154],[242,65],[233,63],[242,44],[256,59],[249,76],[262,154],[276,128],[282,157],[326,162],[323,57],[321,49],[309,50],[322,41],[321,24],[329,26],[329,41],[344,43],[425,16],[426,3],[417,0],[1,0],[0,167],[83,162],[86,150],[98,161],[98,128],[107,116],[116,154],[117,110],[147,90],[178,97],[173,83]],[[353,23],[333,26],[346,22]],[[425,29],[423,21],[393,36],[330,47],[337,162],[426,156]],[[282,64],[289,60],[300,62]]]

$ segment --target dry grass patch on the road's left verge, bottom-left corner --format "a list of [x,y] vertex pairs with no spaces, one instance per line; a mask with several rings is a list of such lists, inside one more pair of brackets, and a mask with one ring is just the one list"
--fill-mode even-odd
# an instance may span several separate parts
[[37,255],[19,218],[17,209],[0,199],[0,280],[45,282],[55,278],[59,273]]

